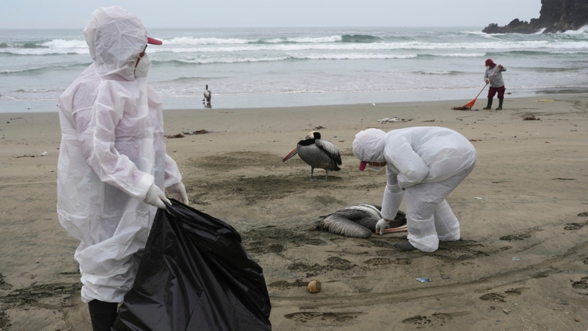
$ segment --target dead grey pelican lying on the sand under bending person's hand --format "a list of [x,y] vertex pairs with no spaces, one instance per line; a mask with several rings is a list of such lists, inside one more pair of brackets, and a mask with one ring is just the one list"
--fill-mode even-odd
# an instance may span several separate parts
[[[324,230],[330,233],[341,234],[346,237],[369,238],[372,232],[376,232],[376,223],[382,219],[380,210],[382,207],[373,204],[358,204],[349,206],[327,216],[320,216],[311,230]],[[393,221],[390,221],[390,229],[385,233],[406,231],[406,213],[398,211]]]

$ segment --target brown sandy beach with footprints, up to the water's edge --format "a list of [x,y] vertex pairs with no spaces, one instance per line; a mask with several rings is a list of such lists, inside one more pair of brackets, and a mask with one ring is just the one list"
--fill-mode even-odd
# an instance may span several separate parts
[[[166,110],[168,135],[209,131],[168,138],[168,153],[192,207],[235,227],[263,267],[275,330],[588,329],[588,95],[451,110],[465,102]],[[393,117],[406,121],[378,121]],[[462,240],[402,252],[393,244],[406,233],[309,230],[341,207],[382,201],[385,173],[362,173],[353,157],[358,131],[417,125],[452,128],[477,149],[447,199]],[[326,182],[309,181],[298,157],[282,162],[312,130],[341,150]],[[55,212],[59,139],[56,112],[0,114],[0,329],[90,329],[78,243]],[[313,279],[322,292],[308,292]]]

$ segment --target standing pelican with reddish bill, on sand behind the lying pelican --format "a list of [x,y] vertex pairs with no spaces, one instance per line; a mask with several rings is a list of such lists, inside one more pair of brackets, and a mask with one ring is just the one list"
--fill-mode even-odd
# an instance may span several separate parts
[[325,169],[325,181],[329,180],[329,170],[339,171],[341,168],[341,154],[339,148],[328,140],[320,138],[320,133],[312,131],[306,135],[306,138],[300,140],[296,148],[286,155],[282,161],[298,154],[302,161],[310,166],[310,180],[313,180],[312,173],[315,168]]

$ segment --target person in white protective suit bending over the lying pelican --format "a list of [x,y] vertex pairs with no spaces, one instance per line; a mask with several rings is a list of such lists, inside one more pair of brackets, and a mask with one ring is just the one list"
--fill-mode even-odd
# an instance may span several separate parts
[[441,241],[460,239],[459,221],[445,198],[472,172],[476,149],[467,138],[442,127],[409,127],[385,133],[376,128],[360,131],[353,154],[366,167],[386,168],[382,216],[376,232],[389,227],[406,196],[408,241],[400,250],[432,252]]

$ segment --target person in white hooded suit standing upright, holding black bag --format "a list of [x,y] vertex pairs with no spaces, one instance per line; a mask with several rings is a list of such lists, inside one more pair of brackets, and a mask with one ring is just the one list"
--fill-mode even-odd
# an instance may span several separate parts
[[74,257],[94,330],[110,330],[131,289],[157,208],[188,204],[165,151],[163,112],[147,85],[149,38],[137,16],[99,8],[83,30],[93,59],[59,97],[57,212],[80,240]]

